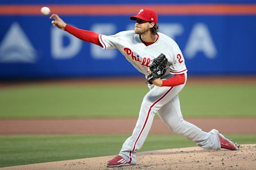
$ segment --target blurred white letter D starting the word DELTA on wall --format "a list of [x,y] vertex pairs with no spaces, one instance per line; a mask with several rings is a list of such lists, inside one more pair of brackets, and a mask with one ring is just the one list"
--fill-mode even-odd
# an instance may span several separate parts
[[[64,37],[69,39],[69,44],[64,46]],[[56,59],[69,59],[75,57],[82,48],[83,41],[70,33],[56,27],[51,29],[51,53]]]

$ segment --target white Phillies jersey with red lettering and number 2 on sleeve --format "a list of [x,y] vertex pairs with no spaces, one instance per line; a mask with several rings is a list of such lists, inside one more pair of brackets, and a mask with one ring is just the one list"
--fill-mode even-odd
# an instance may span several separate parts
[[161,53],[166,56],[169,64],[165,75],[187,72],[185,60],[177,43],[163,33],[158,35],[158,40],[149,46],[143,44],[140,36],[134,31],[122,31],[113,36],[99,35],[99,40],[105,49],[117,48],[139,72],[146,76],[150,61]]

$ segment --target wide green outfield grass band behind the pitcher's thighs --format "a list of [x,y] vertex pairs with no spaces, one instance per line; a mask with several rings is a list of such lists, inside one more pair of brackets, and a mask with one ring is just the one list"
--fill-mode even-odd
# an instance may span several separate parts
[[[147,91],[143,84],[5,88],[0,89],[0,118],[138,117]],[[256,116],[254,85],[186,86],[179,96],[184,116]]]

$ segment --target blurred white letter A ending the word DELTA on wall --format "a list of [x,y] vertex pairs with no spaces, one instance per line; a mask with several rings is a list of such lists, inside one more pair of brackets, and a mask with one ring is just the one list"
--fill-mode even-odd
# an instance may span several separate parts
[[210,31],[205,24],[195,24],[184,52],[186,58],[194,58],[197,52],[203,52],[209,59],[216,57],[217,49],[213,43]]

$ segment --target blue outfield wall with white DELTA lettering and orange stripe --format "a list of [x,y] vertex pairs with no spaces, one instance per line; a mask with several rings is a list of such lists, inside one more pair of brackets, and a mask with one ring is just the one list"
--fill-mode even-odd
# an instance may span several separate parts
[[[185,56],[188,74],[256,74],[256,1],[136,2],[0,1],[0,79],[141,75],[118,50],[103,50],[53,27],[49,16],[39,12],[39,7],[51,5],[103,5],[112,10],[116,5],[117,8],[130,5],[131,14],[120,11],[70,14],[68,10],[58,13],[68,24],[105,35],[133,29],[134,21],[129,20],[129,16],[137,14],[141,6],[153,5],[156,10],[172,5],[181,9],[199,6],[199,13],[158,11],[159,31],[177,41]],[[231,9],[237,5],[238,10],[230,12],[230,8],[223,7],[221,12],[220,7],[213,13],[202,12],[202,5],[226,5]],[[38,12],[22,12],[26,6],[38,8]],[[3,12],[7,7],[16,7],[21,12],[15,9],[11,13]]]

